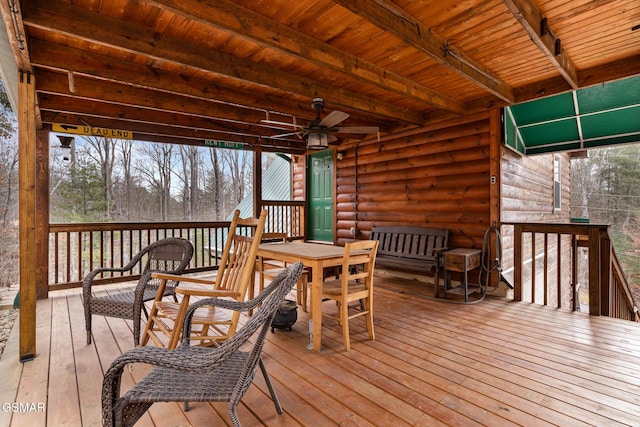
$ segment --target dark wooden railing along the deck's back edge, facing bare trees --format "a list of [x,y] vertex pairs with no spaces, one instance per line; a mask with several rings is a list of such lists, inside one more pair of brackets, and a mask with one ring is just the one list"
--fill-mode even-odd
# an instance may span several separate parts
[[[304,238],[303,202],[263,201],[262,206],[268,211],[265,232]],[[228,221],[50,224],[49,290],[81,286],[93,269],[124,266],[140,249],[165,237],[182,237],[193,244],[186,273],[216,270],[228,232]],[[117,273],[97,282],[136,280],[140,273]]]

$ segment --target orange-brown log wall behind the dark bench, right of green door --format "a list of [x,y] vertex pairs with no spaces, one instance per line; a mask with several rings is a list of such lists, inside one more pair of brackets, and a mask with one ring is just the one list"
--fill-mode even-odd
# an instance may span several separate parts
[[412,225],[450,229],[451,247],[482,247],[489,226],[488,113],[339,151],[338,244],[369,238],[375,225]]

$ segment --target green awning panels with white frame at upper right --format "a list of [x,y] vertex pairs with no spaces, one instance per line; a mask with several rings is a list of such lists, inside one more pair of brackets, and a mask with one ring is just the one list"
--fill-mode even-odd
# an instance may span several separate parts
[[525,155],[640,142],[640,76],[507,107],[504,126]]

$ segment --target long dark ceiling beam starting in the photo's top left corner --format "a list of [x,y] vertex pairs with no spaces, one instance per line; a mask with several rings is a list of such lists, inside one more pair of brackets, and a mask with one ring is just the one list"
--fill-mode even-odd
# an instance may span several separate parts
[[[420,112],[259,65],[227,53],[211,50],[203,56],[197,46],[189,46],[181,40],[170,37],[158,38],[157,34],[150,29],[100,15],[60,0],[39,3],[38,7],[28,3],[23,8],[23,19],[27,26],[53,31],[128,53],[149,56],[163,62],[232,77],[265,88],[277,88],[309,98],[322,96],[327,103],[333,105],[346,106],[405,123],[422,124],[424,121]],[[132,34],[136,37],[131,37]]]

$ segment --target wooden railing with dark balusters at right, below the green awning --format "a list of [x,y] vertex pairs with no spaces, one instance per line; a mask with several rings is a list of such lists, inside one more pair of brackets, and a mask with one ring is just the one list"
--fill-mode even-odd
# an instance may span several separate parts
[[[608,226],[503,223],[513,226],[514,299],[579,310],[580,252],[586,249],[589,314],[640,321]],[[525,274],[526,272],[526,274]]]

